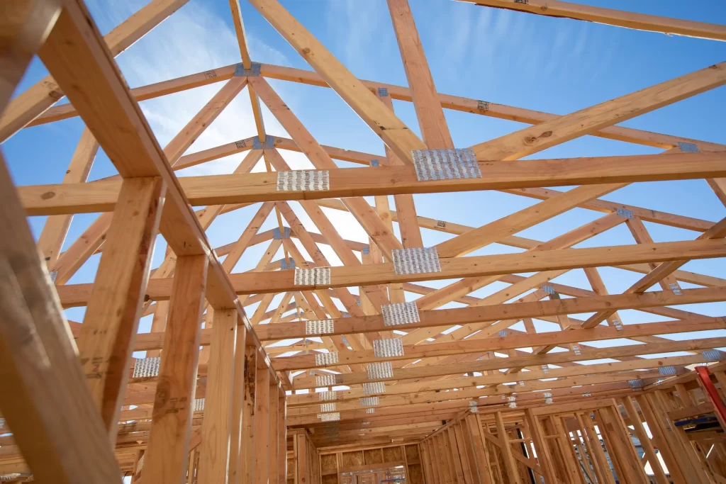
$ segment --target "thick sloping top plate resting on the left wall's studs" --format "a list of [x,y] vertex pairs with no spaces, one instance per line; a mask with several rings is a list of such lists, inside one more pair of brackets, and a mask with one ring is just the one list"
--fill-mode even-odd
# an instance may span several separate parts
[[[211,248],[181,192],[171,167],[146,123],[138,104],[111,53],[103,44],[83,4],[70,1],[63,9],[41,59],[65,87],[68,98],[113,160],[124,178],[160,176],[166,184],[166,202],[160,230],[178,256],[211,255]],[[83,73],[83,75],[81,75]],[[103,102],[99,102],[102,99]],[[113,120],[113,123],[109,123]],[[216,258],[210,258],[207,297],[216,308],[232,307],[234,293]]]

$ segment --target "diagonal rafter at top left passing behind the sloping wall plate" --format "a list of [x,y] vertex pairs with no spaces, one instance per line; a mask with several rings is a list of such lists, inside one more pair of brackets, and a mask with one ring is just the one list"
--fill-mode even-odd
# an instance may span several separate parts
[[[174,13],[188,0],[155,0],[146,7],[131,15],[104,37],[104,44],[113,57],[121,54],[131,44],[138,41],[160,24],[166,17]],[[38,2],[33,2],[38,4]],[[52,2],[51,4],[57,4]],[[38,11],[38,15],[41,11]],[[4,29],[5,30],[5,29]],[[7,30],[6,30],[7,31]],[[42,32],[42,30],[41,30]],[[47,31],[45,32],[47,33]],[[35,52],[35,49],[30,52]],[[61,86],[62,88],[62,86]],[[42,81],[18,95],[9,103],[7,110],[0,117],[0,143],[37,118],[45,110],[63,97],[54,78],[47,75]],[[1,105],[4,106],[4,102]]]

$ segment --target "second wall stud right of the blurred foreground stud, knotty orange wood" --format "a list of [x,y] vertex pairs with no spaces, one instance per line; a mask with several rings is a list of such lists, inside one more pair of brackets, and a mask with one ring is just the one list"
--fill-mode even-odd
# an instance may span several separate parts
[[187,475],[207,279],[206,255],[177,258],[175,274],[144,459],[144,480],[151,483],[179,483]]

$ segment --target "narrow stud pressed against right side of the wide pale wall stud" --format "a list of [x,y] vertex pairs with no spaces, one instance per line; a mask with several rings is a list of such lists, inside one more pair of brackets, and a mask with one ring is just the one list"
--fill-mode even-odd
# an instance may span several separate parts
[[[237,321],[239,322],[239,320]],[[241,481],[240,448],[242,443],[242,406],[245,393],[245,346],[247,329],[244,324],[237,325],[237,343],[234,344],[234,380],[232,384],[232,427],[229,432],[228,482]]]

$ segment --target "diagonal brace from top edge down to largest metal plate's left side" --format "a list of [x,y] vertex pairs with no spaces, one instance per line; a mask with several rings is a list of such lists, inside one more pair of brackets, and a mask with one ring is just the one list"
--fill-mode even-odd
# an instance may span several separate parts
[[[263,17],[292,45],[314,70],[348,103],[362,120],[388,144],[404,163],[413,164],[411,152],[426,145],[386,108],[317,38],[309,33],[277,0],[250,0]],[[257,86],[255,86],[257,89]]]

